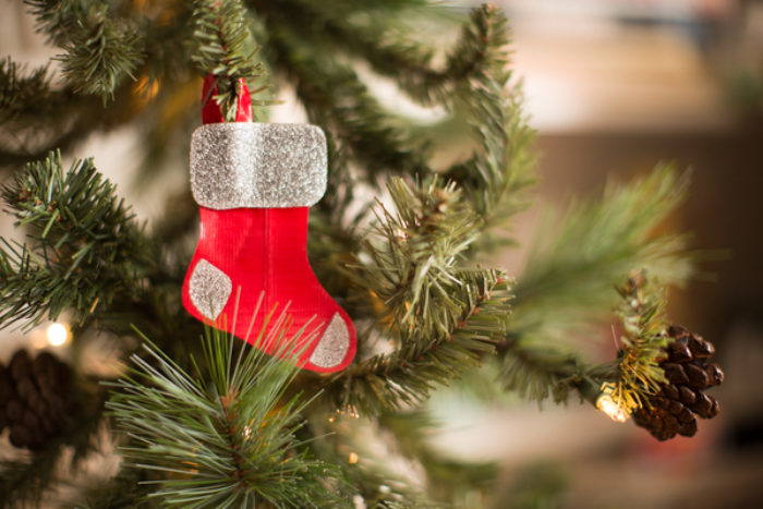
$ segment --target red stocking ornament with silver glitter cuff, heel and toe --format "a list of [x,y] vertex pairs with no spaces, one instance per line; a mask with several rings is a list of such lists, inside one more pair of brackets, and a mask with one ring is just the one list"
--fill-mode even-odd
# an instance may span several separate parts
[[[208,76],[205,124],[191,141],[201,232],[183,305],[267,353],[301,351],[298,362],[305,369],[340,371],[355,355],[355,328],[315,278],[306,251],[308,207],[326,191],[326,137],[315,125],[252,122],[243,83],[237,122],[223,123],[209,99],[214,84]],[[288,305],[292,322],[286,335],[266,335],[268,342],[259,344],[256,332],[276,305]],[[311,344],[282,344],[308,322],[307,331],[318,327]],[[252,323],[255,337],[247,334]]]

